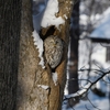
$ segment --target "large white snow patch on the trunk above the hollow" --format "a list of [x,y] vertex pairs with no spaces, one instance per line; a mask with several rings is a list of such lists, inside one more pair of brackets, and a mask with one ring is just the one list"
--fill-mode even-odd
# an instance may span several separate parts
[[48,0],[46,10],[44,12],[41,26],[47,28],[51,25],[55,25],[57,29],[59,24],[64,24],[65,21],[62,16],[56,18],[55,14],[58,12],[58,1],[57,0]]

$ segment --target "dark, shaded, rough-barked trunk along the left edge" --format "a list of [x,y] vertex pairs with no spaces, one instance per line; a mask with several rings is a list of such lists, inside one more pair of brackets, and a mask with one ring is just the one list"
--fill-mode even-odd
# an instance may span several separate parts
[[21,0],[0,0],[0,110],[15,110]]

